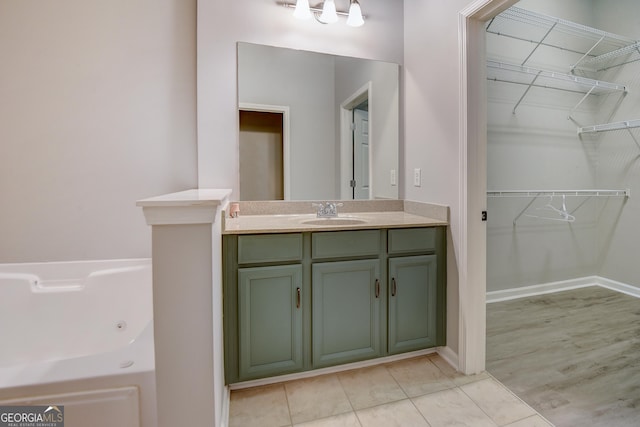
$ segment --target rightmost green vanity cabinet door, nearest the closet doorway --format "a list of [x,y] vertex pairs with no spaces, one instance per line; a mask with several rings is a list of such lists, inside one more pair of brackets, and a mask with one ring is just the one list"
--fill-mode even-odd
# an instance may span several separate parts
[[437,331],[437,256],[389,258],[389,353],[434,347]]

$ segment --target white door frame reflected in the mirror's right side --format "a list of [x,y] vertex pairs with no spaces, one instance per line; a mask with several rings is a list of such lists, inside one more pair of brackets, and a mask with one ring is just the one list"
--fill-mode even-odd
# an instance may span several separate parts
[[[373,197],[373,168],[371,162],[373,152],[372,89],[373,84],[369,81],[340,103],[340,198],[344,200],[353,199],[353,190],[349,185],[351,179],[353,179],[352,110],[365,99],[369,100],[369,198]],[[346,177],[350,178],[347,180],[345,179]]]

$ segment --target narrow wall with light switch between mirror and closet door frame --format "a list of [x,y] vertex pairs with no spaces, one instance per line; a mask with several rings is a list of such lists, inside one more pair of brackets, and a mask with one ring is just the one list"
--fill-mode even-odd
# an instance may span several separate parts
[[[405,2],[404,198],[450,206],[447,345],[458,352],[460,227],[458,14],[455,1]],[[420,168],[422,185],[413,186]],[[482,302],[478,302],[482,303]]]

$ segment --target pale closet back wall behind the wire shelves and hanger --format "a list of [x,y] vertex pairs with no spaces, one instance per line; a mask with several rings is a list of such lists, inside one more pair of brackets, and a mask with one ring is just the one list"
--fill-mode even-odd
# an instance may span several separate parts
[[[555,2],[526,0],[518,7],[590,25],[591,1]],[[495,31],[526,34],[526,25],[504,25]],[[501,26],[500,26],[501,25]],[[515,32],[514,32],[515,29]],[[519,32],[518,32],[519,30]],[[544,30],[541,30],[542,35]],[[571,41],[554,34],[554,42]],[[487,56],[521,64],[535,45],[504,36],[487,34]],[[569,73],[569,65],[581,55],[539,47],[526,65]],[[514,76],[506,76],[513,78]],[[529,77],[532,79],[533,77]],[[539,80],[540,84],[544,84]],[[487,187],[489,190],[562,190],[597,188],[598,153],[576,134],[576,123],[593,123],[597,101],[591,97],[568,120],[583,94],[533,87],[513,109],[526,86],[489,81]],[[598,272],[598,221],[588,202],[575,212],[574,223],[534,219],[545,215],[547,203],[561,207],[561,198],[539,199],[520,216],[531,198],[489,198],[487,201],[487,290],[495,291],[595,275]],[[573,211],[583,200],[567,198]],[[597,206],[597,205],[596,205]]]

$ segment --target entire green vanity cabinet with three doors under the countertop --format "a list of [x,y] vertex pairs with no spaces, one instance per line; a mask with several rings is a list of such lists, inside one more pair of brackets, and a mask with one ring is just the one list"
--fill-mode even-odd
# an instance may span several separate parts
[[225,381],[445,345],[445,231],[223,235]]

